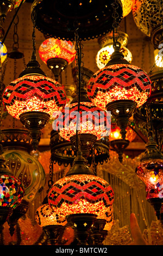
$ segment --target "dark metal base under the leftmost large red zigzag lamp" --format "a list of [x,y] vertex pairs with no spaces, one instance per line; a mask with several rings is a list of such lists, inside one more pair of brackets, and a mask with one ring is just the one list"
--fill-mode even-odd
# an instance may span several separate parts
[[36,150],[41,137],[41,131],[48,123],[50,115],[45,112],[30,111],[20,115],[21,123],[29,130],[33,149]]

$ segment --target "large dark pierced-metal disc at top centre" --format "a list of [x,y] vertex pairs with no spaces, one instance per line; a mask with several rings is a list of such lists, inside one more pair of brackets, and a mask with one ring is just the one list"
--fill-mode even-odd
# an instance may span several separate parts
[[123,17],[120,0],[49,0],[48,6],[45,0],[35,0],[32,17],[36,28],[50,37],[73,41],[74,31],[78,29],[79,40],[90,40],[112,31],[115,8],[120,23]]

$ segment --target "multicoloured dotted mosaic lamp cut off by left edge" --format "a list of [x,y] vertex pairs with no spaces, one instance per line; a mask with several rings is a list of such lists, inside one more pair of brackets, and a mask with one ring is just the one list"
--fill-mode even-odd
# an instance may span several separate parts
[[15,178],[5,164],[2,152],[0,156],[0,181],[0,232],[2,232],[3,224],[12,215],[12,211],[22,202],[24,196],[21,181]]

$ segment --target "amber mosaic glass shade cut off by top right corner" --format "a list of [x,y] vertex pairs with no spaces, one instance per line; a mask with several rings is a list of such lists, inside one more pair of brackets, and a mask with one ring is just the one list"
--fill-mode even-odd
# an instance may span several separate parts
[[151,36],[155,26],[162,23],[162,1],[135,0],[133,17],[136,26],[147,36]]

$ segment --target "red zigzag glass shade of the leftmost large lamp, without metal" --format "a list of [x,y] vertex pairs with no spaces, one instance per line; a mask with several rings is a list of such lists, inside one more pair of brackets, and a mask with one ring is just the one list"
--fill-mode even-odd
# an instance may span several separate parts
[[25,112],[44,112],[52,115],[66,105],[66,94],[61,85],[41,75],[26,75],[12,81],[3,94],[8,113],[20,119]]

